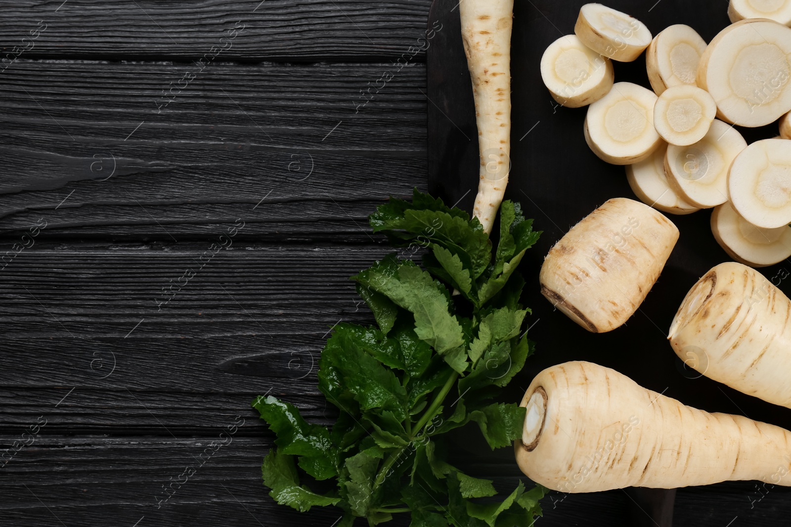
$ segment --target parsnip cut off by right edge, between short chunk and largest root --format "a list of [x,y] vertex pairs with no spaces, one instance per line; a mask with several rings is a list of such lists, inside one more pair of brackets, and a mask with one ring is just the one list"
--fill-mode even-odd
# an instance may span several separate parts
[[702,356],[691,367],[707,377],[791,408],[789,322],[791,302],[782,291],[755,269],[726,262],[690,289],[668,338],[682,359],[689,350]]

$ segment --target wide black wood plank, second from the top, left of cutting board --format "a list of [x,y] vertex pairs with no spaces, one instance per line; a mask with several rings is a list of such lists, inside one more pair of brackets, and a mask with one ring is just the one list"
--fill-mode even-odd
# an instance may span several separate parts
[[391,68],[212,66],[157,113],[173,66],[15,64],[0,75],[0,232],[44,217],[45,235],[170,243],[241,217],[258,239],[366,240],[377,203],[425,186],[425,66],[354,106]]

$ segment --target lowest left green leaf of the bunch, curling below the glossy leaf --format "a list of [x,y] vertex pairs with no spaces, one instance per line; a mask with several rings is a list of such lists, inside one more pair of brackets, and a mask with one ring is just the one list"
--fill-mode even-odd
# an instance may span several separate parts
[[335,505],[340,501],[340,498],[323,496],[300,487],[293,456],[278,454],[274,448],[263,458],[261,472],[263,484],[270,487],[269,495],[274,501],[300,512],[308,511],[312,506]]

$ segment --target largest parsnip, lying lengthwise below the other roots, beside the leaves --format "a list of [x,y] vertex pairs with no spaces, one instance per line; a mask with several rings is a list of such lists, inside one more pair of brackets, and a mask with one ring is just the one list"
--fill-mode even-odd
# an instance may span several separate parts
[[[521,405],[528,419],[526,437],[514,444],[517,464],[555,491],[725,480],[791,485],[791,432],[685,406],[607,367],[570,362],[547,368]],[[535,423],[543,423],[537,432]]]

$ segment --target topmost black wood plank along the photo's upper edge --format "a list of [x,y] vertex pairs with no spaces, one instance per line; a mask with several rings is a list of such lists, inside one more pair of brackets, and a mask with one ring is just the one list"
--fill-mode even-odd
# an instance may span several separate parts
[[[395,60],[420,46],[430,0],[52,0],[3,7],[0,50],[25,58]],[[40,22],[42,22],[40,24]],[[36,28],[45,28],[35,40]],[[233,28],[244,28],[230,33]],[[221,40],[236,35],[232,40]],[[18,52],[18,51],[17,51]],[[0,58],[5,55],[0,55]],[[14,55],[11,55],[13,57]],[[422,52],[413,58],[422,61]],[[0,66],[2,68],[2,66]]]

